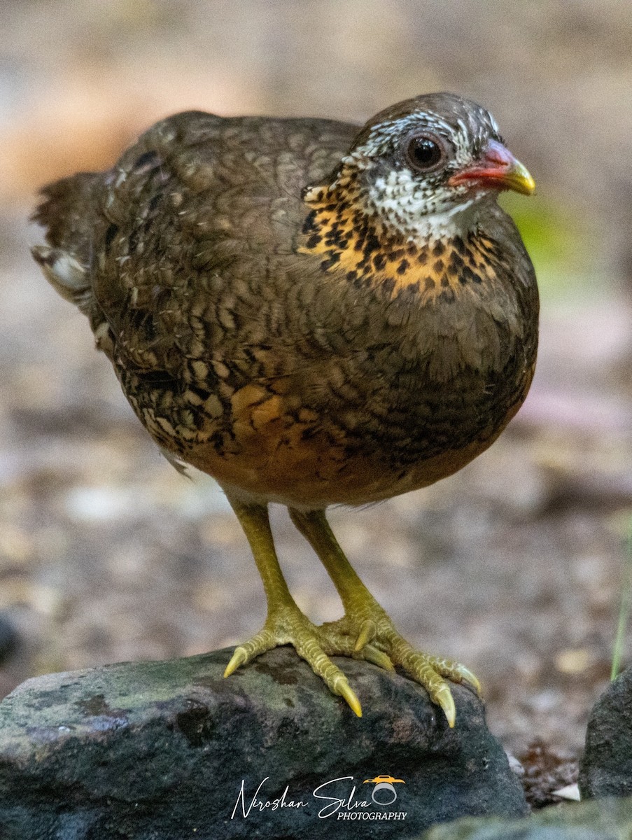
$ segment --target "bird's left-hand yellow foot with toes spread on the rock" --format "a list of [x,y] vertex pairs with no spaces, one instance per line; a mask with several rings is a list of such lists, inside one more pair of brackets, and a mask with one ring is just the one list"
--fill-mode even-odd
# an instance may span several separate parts
[[[321,636],[320,628],[315,627],[294,605],[283,605],[277,611],[268,614],[260,632],[234,649],[234,654],[224,670],[224,676],[230,676],[241,665],[249,663],[266,650],[284,644],[291,644],[313,672],[322,677],[329,690],[343,697],[356,715],[362,717],[362,707],[356,692],[350,687],[349,680],[340,668],[329,659],[329,656],[333,655],[351,656],[353,640],[347,637],[341,646],[332,648],[328,639]],[[382,664],[382,667],[390,665],[386,662],[387,657],[370,644],[366,644],[359,656],[361,659]]]

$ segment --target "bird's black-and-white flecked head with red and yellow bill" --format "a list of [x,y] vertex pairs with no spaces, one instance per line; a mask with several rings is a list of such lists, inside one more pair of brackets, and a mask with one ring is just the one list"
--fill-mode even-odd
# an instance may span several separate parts
[[386,234],[419,241],[466,232],[498,192],[535,182],[506,148],[492,115],[450,93],[414,97],[376,114],[329,184]]

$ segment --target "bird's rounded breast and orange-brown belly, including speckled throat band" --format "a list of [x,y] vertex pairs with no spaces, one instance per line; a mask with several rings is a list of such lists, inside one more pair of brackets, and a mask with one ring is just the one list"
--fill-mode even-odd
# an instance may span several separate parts
[[[155,439],[233,491],[299,507],[426,486],[486,449],[535,362],[500,244],[392,239],[343,202],[308,209],[295,250],[285,274],[268,261],[274,295],[256,307],[250,286],[236,293],[237,264],[217,276],[223,338],[182,365],[173,399],[153,372],[124,382]],[[213,312],[189,319],[200,347]]]

